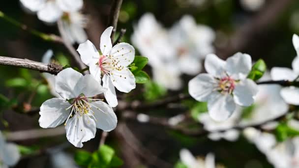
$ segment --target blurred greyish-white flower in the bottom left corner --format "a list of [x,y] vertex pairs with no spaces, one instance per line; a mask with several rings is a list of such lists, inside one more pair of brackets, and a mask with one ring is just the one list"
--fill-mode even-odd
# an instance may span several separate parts
[[14,166],[20,160],[20,152],[14,143],[7,143],[0,132],[0,168]]

